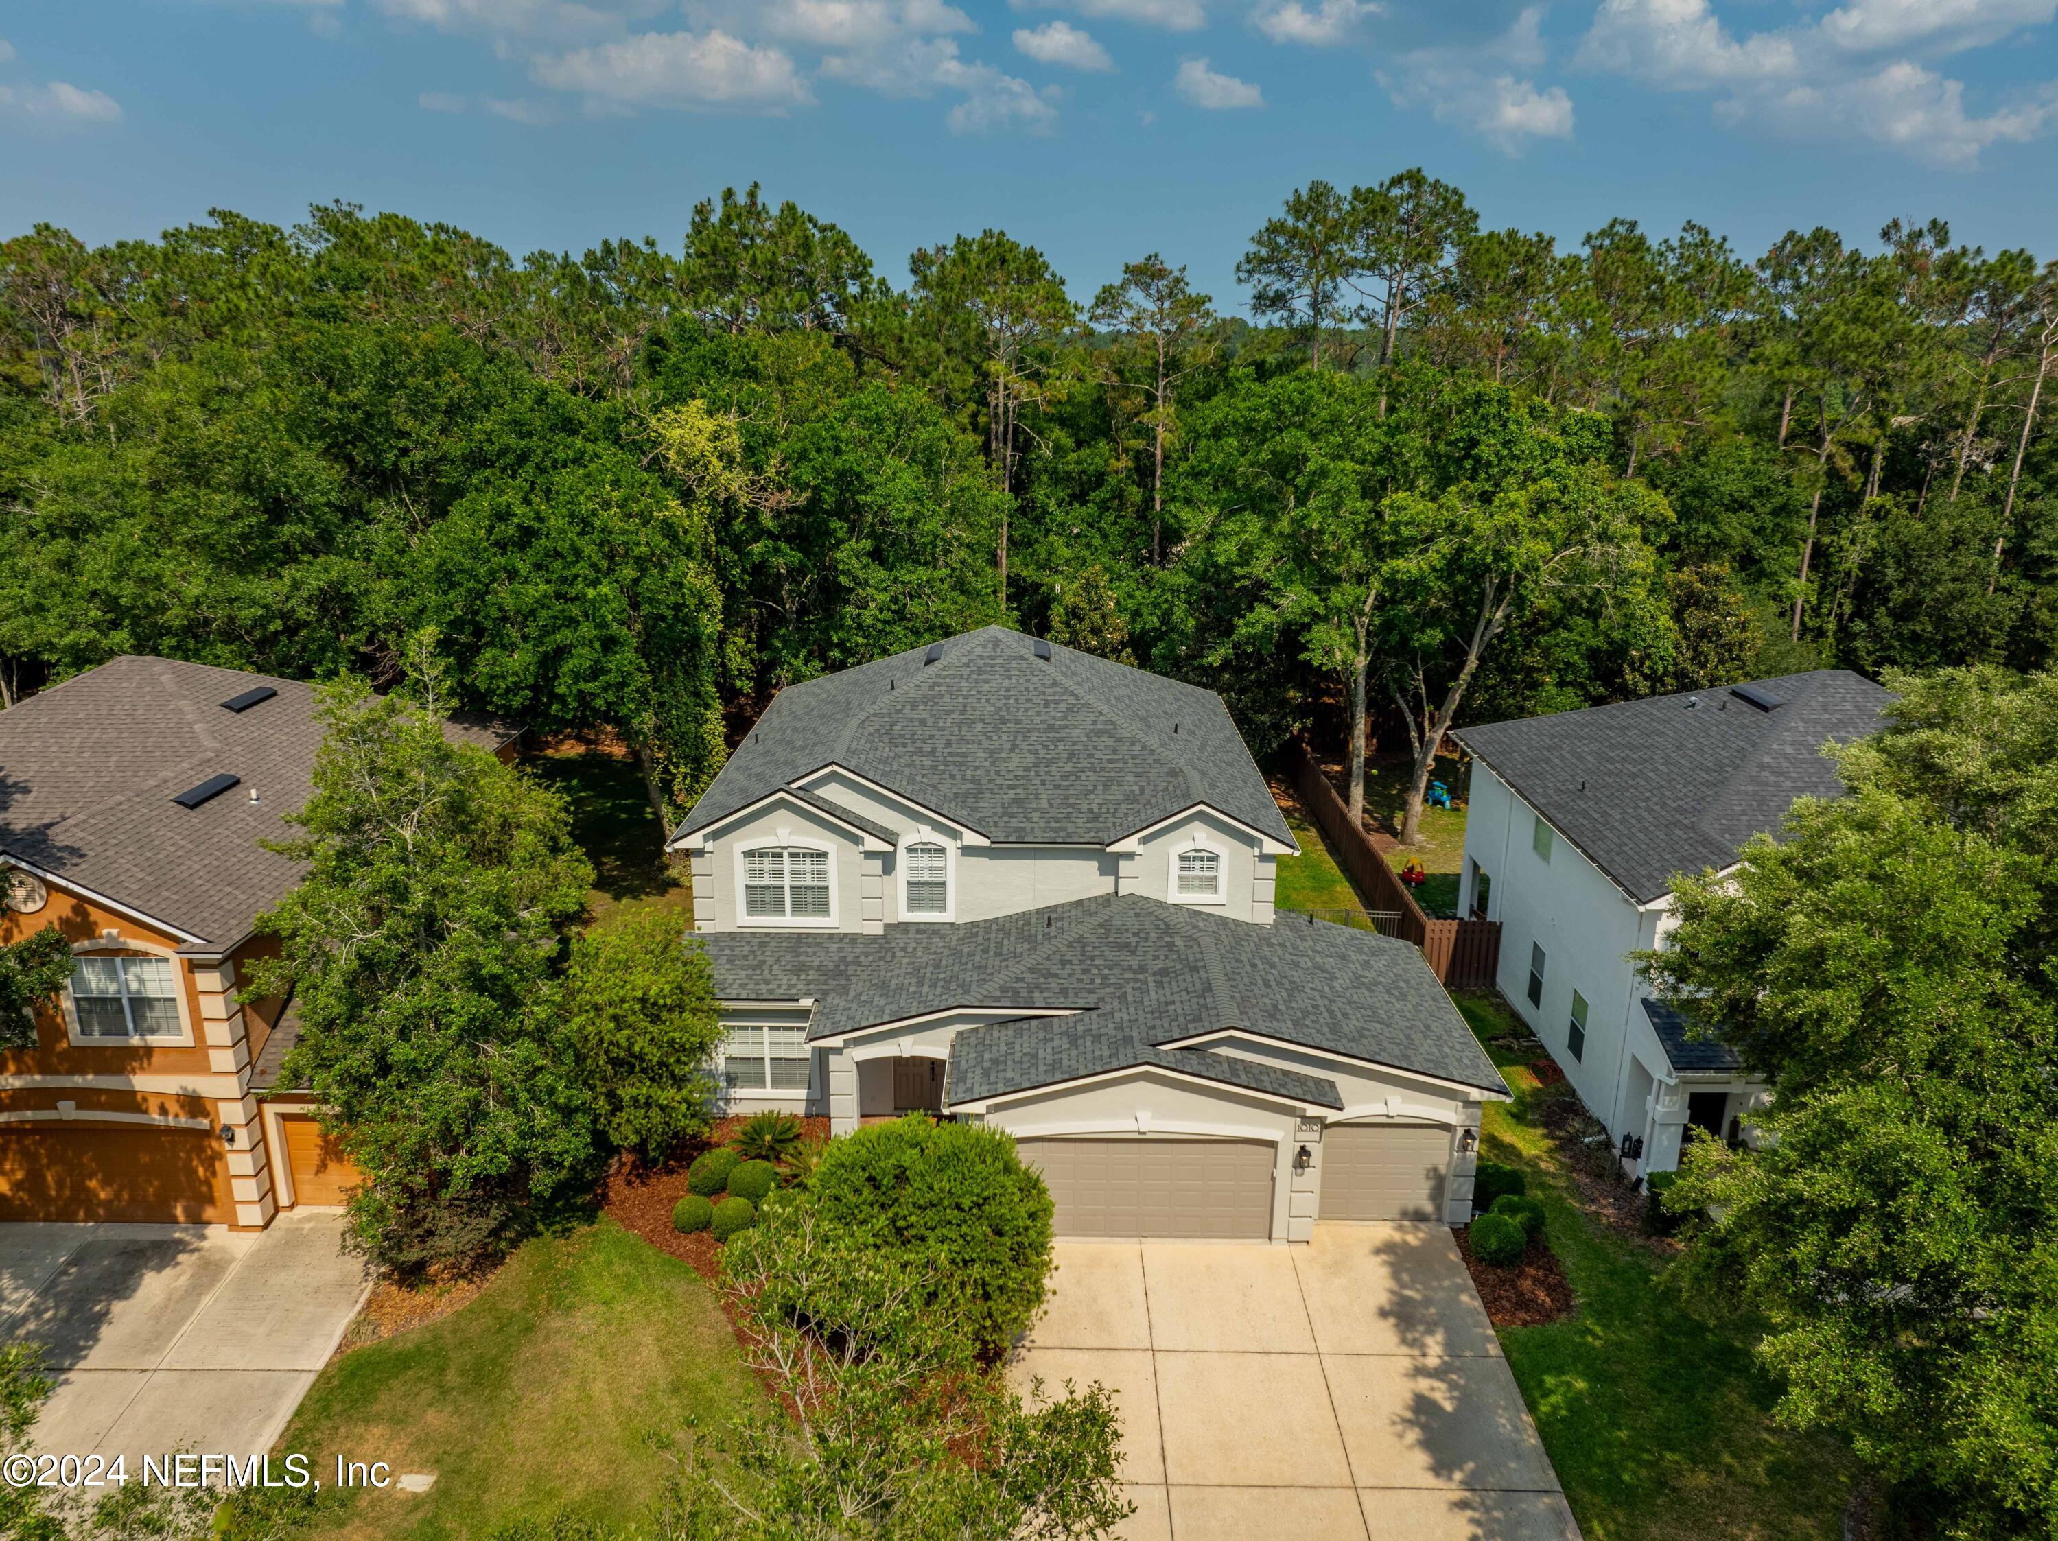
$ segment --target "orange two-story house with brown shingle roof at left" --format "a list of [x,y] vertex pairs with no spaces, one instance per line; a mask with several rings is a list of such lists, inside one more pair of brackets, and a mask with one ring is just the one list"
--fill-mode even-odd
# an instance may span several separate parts
[[342,1199],[350,1169],[278,1086],[292,1010],[239,992],[300,876],[261,841],[292,835],[319,747],[307,685],[169,658],[0,712],[0,942],[56,924],[74,955],[35,1045],[0,1053],[0,1220],[255,1228]]

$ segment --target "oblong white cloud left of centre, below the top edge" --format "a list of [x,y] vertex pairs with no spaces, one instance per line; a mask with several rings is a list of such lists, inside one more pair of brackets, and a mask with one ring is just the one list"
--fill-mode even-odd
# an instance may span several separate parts
[[722,31],[638,33],[543,56],[537,82],[580,91],[593,107],[733,107],[784,111],[813,101],[784,49],[757,47]]

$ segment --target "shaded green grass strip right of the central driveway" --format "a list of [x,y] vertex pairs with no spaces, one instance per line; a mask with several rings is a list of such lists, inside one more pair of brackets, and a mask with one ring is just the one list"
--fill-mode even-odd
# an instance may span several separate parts
[[[1496,998],[1457,1004],[1482,1041],[1521,1031]],[[1589,1541],[1840,1537],[1848,1450],[1778,1428],[1747,1325],[1686,1311],[1665,1259],[1574,1204],[1529,1119],[1535,1076],[1492,1053],[1515,1101],[1488,1105],[1480,1154],[1529,1173],[1576,1298],[1566,1321],[1500,1327],[1500,1346]]]

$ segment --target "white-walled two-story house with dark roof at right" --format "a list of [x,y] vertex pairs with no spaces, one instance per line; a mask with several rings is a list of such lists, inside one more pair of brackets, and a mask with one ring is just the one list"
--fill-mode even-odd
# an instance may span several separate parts
[[1459,913],[1500,922],[1500,994],[1634,1171],[1677,1167],[1688,1125],[1741,1138],[1766,1088],[1630,953],[1663,946],[1679,872],[1731,870],[1797,798],[1842,796],[1823,745],[1887,702],[1819,669],[1453,734],[1474,757]]

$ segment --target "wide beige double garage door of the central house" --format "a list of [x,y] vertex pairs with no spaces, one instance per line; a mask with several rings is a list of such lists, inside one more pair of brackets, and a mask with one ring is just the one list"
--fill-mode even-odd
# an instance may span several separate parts
[[1060,1237],[1272,1234],[1274,1146],[1257,1140],[1023,1140]]

